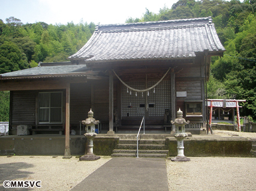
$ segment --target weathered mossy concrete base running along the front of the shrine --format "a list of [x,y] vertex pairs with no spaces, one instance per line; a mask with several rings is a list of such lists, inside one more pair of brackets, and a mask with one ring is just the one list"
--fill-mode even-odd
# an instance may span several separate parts
[[[137,134],[98,134],[94,138],[94,155],[110,156],[121,140],[136,139]],[[141,134],[141,140],[165,139],[169,156],[177,156],[177,140],[168,134]],[[256,141],[256,140],[255,140]],[[164,144],[164,143],[162,143]],[[252,145],[254,146],[252,148]],[[256,142],[245,137],[221,137],[219,135],[192,135],[184,140],[184,154],[194,156],[255,157]],[[87,138],[70,135],[72,156],[83,156],[88,149]],[[251,152],[252,150],[252,152]],[[50,155],[65,156],[65,135],[8,135],[0,137],[0,155]],[[87,152],[86,152],[87,153]]]

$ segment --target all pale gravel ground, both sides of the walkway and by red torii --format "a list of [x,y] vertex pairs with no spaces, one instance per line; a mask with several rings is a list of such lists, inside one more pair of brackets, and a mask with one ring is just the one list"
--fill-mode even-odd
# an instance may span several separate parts
[[[256,133],[213,132],[215,135],[256,138]],[[0,190],[10,190],[4,189],[2,183],[5,180],[41,180],[42,187],[32,190],[71,190],[110,159],[110,156],[101,156],[98,161],[79,161],[74,156],[68,160],[62,159],[62,156],[0,156]],[[256,190],[256,158],[190,159],[190,162],[166,160],[170,191]]]

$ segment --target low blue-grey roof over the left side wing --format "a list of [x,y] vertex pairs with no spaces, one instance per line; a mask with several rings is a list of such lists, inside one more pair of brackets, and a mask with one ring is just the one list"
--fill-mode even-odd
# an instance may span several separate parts
[[69,74],[85,72],[88,70],[85,64],[82,65],[66,65],[66,66],[42,66],[42,67],[32,67],[25,70],[17,70],[15,72],[2,73],[1,78],[8,78],[13,76],[34,76],[34,75],[59,75],[59,74]]

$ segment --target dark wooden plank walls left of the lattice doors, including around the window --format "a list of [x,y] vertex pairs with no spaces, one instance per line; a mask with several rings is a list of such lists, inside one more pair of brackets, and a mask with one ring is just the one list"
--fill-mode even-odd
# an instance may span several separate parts
[[[92,108],[94,118],[109,122],[109,81],[89,81],[70,85],[70,124],[79,127],[79,121],[88,118]],[[47,91],[47,90],[42,90]],[[49,90],[62,91],[62,90]],[[11,91],[11,118],[13,127],[17,125],[37,126],[38,90]],[[116,88],[115,88],[116,105]],[[65,91],[63,93],[63,124],[65,124]]]

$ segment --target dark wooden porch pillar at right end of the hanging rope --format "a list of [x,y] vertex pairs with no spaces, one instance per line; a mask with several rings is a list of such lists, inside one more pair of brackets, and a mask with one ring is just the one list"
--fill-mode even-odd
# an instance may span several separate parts
[[[176,88],[175,88],[175,73],[174,69],[171,69],[171,120],[176,118]],[[175,132],[175,125],[172,125],[171,131]]]

